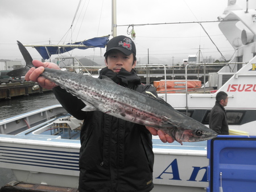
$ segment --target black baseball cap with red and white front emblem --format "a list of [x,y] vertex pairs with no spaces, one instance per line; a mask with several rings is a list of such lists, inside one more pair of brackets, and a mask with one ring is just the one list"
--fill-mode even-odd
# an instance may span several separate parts
[[131,53],[134,53],[136,56],[136,47],[133,40],[124,35],[119,35],[109,40],[104,57],[113,49],[117,49],[125,55],[131,55]]

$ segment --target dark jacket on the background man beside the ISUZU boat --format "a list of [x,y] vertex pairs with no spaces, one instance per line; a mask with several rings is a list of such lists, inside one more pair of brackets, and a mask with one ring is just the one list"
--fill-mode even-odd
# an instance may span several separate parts
[[218,135],[229,135],[228,120],[226,119],[225,108],[216,101],[210,111],[209,127]]

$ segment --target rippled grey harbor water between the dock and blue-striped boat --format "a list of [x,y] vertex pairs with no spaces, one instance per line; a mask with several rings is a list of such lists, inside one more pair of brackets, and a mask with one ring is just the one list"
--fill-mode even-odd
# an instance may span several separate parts
[[52,91],[0,100],[0,120],[39,108],[60,104]]

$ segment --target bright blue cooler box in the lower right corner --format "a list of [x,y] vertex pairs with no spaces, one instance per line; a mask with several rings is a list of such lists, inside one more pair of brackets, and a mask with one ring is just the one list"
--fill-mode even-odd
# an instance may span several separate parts
[[207,142],[207,192],[256,191],[256,136],[219,135]]

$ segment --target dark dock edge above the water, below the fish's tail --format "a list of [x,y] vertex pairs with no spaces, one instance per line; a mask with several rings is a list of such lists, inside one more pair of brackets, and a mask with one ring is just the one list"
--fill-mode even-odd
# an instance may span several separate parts
[[0,99],[11,99],[12,97],[43,93],[44,91],[51,90],[44,89],[38,83],[32,81],[2,84],[0,85]]

